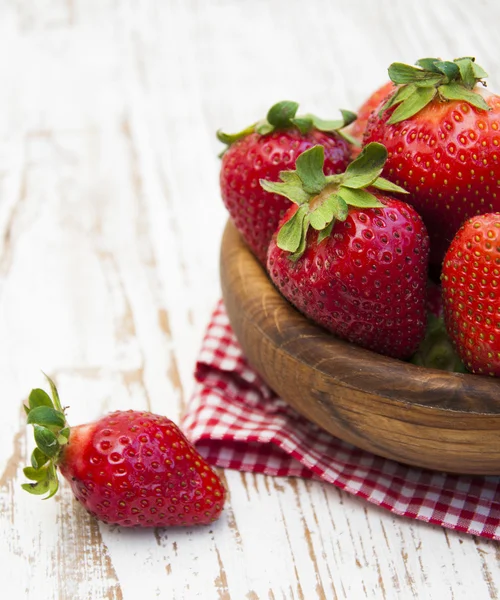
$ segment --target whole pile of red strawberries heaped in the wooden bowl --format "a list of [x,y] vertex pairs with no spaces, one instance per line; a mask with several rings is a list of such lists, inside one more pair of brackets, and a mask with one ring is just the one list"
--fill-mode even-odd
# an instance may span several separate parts
[[336,336],[500,376],[500,96],[471,57],[389,77],[357,118],[280,102],[219,132],[224,204],[277,289]]

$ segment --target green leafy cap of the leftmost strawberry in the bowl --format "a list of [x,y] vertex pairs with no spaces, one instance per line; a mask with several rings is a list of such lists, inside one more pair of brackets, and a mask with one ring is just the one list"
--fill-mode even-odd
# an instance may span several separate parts
[[297,116],[299,105],[297,102],[283,100],[271,106],[265,119],[253,123],[249,127],[242,129],[237,133],[224,133],[220,129],[217,131],[217,139],[228,147],[234,142],[246,137],[251,133],[267,135],[273,131],[286,131],[287,129],[298,129],[302,134],[309,133],[312,129],[324,132],[336,131],[344,137],[349,143],[359,145],[359,142],[348,133],[341,131],[344,127],[350,125],[356,120],[357,115],[349,110],[340,109],[341,119],[325,120],[320,119],[313,114]]

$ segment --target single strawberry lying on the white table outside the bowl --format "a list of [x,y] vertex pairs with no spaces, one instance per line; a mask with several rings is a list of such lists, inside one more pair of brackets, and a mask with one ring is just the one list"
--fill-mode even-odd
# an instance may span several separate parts
[[123,527],[208,524],[222,511],[220,479],[169,419],[117,411],[68,427],[54,383],[52,399],[32,390],[25,406],[37,447],[24,474],[31,494],[53,496],[57,469],[96,519]]

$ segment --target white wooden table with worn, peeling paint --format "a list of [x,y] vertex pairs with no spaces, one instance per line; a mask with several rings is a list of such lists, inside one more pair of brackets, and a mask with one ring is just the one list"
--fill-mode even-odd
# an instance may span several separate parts
[[0,596],[498,598],[500,546],[334,487],[223,473],[211,528],[98,524],[21,491],[43,369],[74,424],[179,421],[220,295],[219,127],[277,100],[357,108],[390,62],[476,56],[500,90],[497,0],[0,3]]

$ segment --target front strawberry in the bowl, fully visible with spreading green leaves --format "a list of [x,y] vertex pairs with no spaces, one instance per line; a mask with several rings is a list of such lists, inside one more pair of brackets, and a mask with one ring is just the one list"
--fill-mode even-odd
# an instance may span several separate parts
[[[416,211],[380,177],[387,151],[366,146],[341,175],[323,173],[323,148],[268,191],[295,205],[268,251],[267,269],[296,308],[338,337],[406,359],[425,333],[429,239]],[[367,191],[369,188],[372,192]]]

